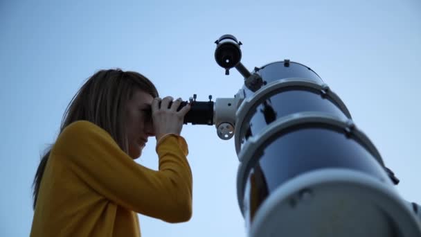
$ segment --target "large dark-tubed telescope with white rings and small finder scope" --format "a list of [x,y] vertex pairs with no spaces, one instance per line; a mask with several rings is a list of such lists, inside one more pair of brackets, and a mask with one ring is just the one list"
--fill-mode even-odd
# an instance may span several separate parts
[[316,72],[290,60],[249,71],[237,38],[215,44],[225,74],[244,80],[233,98],[190,98],[184,123],[234,137],[248,236],[421,236],[420,206],[396,191],[399,179]]

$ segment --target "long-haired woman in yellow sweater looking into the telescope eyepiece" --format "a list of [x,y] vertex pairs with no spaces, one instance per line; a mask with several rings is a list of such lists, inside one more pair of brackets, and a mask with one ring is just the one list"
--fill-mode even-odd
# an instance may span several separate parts
[[[34,179],[30,236],[141,236],[137,213],[166,222],[192,215],[192,173],[180,136],[190,105],[158,98],[132,71],[102,70],[84,83]],[[159,170],[134,159],[156,137]]]

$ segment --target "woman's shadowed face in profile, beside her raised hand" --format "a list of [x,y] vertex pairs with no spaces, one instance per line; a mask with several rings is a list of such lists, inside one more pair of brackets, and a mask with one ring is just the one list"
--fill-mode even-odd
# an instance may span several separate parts
[[134,91],[126,105],[125,129],[129,146],[129,156],[136,159],[141,156],[147,138],[154,136],[151,107],[154,98],[140,89]]

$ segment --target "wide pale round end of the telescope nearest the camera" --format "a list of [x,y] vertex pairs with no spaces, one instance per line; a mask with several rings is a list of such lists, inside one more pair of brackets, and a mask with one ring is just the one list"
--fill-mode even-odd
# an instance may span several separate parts
[[271,193],[247,225],[250,237],[421,236],[419,220],[393,188],[365,173],[339,168],[290,179]]

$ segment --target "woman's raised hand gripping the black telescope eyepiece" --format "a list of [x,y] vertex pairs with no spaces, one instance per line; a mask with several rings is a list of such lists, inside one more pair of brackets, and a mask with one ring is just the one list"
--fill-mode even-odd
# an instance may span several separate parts
[[[184,116],[190,110],[190,104],[184,106],[177,112],[179,105],[181,104],[181,98],[174,100],[171,96],[167,96],[161,100],[161,98],[154,98],[152,101],[152,121],[154,123],[154,132],[156,141],[168,133],[174,133],[179,135],[181,128],[183,128]],[[170,102],[172,105],[169,107]],[[161,103],[161,106],[159,104]]]

